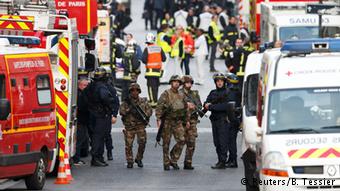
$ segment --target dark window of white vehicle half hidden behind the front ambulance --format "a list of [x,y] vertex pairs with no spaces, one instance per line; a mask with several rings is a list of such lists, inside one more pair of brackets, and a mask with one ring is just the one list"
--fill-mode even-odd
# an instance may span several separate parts
[[247,77],[247,85],[244,90],[245,93],[245,106],[246,106],[246,115],[247,116],[255,116],[256,115],[256,106],[257,106],[257,87],[258,87],[259,75],[253,74]]

